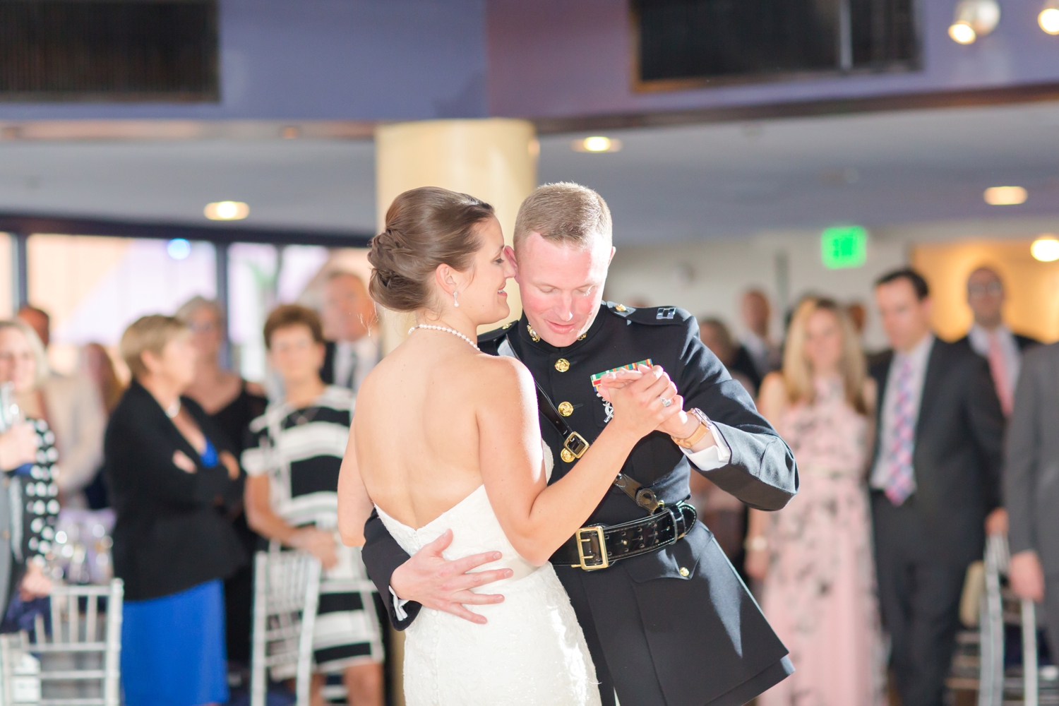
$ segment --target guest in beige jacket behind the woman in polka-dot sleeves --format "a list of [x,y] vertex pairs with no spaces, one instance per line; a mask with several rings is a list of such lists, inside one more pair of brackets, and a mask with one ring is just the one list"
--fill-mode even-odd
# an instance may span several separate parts
[[[51,319],[35,307],[22,307],[18,319],[29,324],[47,352]],[[47,356],[44,357],[47,363]],[[32,391],[19,396],[26,415],[48,419],[55,446],[62,457],[56,482],[64,505],[84,507],[83,490],[95,477],[103,461],[103,431],[107,415],[92,382],[82,375],[56,375],[46,368]]]

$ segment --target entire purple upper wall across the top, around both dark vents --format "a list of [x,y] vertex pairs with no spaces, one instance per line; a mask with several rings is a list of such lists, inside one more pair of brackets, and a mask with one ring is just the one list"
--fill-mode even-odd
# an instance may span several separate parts
[[635,93],[628,0],[220,0],[219,103],[0,103],[0,121],[564,117],[1059,83],[1043,0],[1004,0],[970,47],[946,33],[954,2],[921,0],[921,72]]

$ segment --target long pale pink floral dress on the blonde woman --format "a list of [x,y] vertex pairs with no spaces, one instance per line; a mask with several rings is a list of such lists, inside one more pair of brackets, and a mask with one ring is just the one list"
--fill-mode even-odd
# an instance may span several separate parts
[[757,704],[881,705],[884,653],[864,483],[868,420],[845,400],[840,380],[818,380],[815,401],[789,408],[776,430],[794,452],[802,485],[770,515],[761,608],[796,671]]

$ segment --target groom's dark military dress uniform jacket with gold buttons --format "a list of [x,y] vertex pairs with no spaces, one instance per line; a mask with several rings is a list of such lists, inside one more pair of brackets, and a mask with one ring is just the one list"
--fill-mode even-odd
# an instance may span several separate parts
[[[633,309],[606,303],[588,332],[556,348],[535,337],[525,316],[479,339],[497,354],[507,340],[567,422],[592,442],[606,426],[607,410],[590,377],[650,359],[699,408],[731,450],[730,461],[703,475],[751,507],[778,510],[797,491],[794,457],[757,414],[742,385],[699,340],[695,318],[672,307]],[[556,459],[552,482],[573,464],[560,459],[562,439],[541,418],[544,441]],[[641,439],[622,472],[671,506],[690,494],[690,465],[668,435]],[[701,472],[701,471],[700,471]],[[646,510],[611,488],[587,524],[613,525],[643,518]],[[408,555],[373,514],[364,528],[364,564],[379,587],[394,627],[408,627],[420,608],[394,613],[389,590],[394,569]],[[586,572],[555,565],[585,630],[605,704],[613,694],[626,706],[728,706],[742,704],[791,671],[787,649],[773,633],[713,533],[696,523],[676,544]]]

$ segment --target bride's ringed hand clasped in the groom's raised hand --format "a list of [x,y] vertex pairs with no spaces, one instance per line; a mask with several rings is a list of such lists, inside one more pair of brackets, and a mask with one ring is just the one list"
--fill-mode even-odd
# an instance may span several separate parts
[[636,438],[665,424],[684,408],[684,399],[677,394],[677,386],[658,365],[641,365],[635,372],[607,375],[600,380],[599,393],[614,406],[614,418],[610,424],[634,434]]

